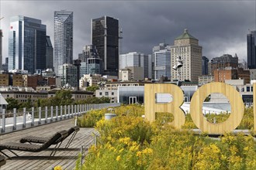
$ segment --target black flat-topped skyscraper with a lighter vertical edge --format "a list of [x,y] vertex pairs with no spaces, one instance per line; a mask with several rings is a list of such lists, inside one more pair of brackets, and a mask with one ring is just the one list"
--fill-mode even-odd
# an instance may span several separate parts
[[119,21],[109,16],[92,19],[92,44],[102,59],[104,74],[117,76],[119,66]]

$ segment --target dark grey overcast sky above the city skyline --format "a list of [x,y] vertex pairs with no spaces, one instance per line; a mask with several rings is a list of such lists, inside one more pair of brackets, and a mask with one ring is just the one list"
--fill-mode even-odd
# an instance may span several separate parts
[[[176,1],[10,1],[0,0],[3,58],[8,56],[9,20],[13,15],[41,19],[54,44],[54,11],[74,12],[74,59],[91,42],[91,19],[119,19],[121,53],[149,54],[161,42],[174,44],[184,29],[199,39],[202,55],[229,53],[247,60],[247,33],[256,29],[256,0]],[[3,59],[4,60],[4,59]],[[5,62],[4,62],[5,63]]]

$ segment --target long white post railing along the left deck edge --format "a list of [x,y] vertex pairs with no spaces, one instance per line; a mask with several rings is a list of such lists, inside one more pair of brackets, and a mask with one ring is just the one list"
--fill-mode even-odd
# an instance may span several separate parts
[[27,110],[13,109],[6,112],[5,109],[0,113],[0,134],[35,127],[42,124],[49,124],[56,121],[62,121],[68,118],[80,116],[89,110],[99,110],[106,107],[118,107],[115,104],[78,104],[56,107],[38,107]]

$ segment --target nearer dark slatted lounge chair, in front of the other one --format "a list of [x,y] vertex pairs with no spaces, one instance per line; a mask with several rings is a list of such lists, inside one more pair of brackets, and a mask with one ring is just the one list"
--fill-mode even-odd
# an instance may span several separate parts
[[[5,144],[0,145],[0,152],[5,155],[6,157],[10,158],[9,155],[6,155],[2,150],[9,150],[12,152],[12,154],[17,155],[13,150],[16,151],[30,151],[30,152],[39,152],[43,151],[47,148],[50,147],[50,145],[58,144],[64,140],[64,138],[67,137],[67,131],[59,131],[56,134],[54,134],[51,138],[49,138],[48,141],[45,141],[43,145],[30,145],[30,144],[22,144],[22,143],[14,143],[14,142],[9,142]],[[54,150],[50,153],[50,156],[54,156],[57,149],[60,147],[60,145],[56,145],[54,147]]]

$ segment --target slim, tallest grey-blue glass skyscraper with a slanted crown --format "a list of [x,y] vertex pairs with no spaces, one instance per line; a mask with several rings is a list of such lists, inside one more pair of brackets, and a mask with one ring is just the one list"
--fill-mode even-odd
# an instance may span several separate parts
[[54,71],[73,60],[73,12],[54,12]]

